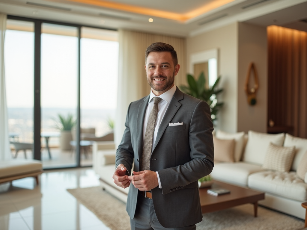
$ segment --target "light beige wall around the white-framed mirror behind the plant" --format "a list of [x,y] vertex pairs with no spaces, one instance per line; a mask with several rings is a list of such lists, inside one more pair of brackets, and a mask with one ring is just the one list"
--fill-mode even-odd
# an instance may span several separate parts
[[[218,75],[224,88],[219,99],[225,104],[218,114],[216,128],[237,132],[238,117],[238,23],[187,38],[187,67],[192,53],[218,48]],[[188,70],[190,72],[190,70]]]

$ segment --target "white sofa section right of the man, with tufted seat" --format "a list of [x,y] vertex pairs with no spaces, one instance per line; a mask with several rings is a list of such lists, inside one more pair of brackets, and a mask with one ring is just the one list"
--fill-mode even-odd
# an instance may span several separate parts
[[[219,136],[219,132],[216,136]],[[243,138],[245,144],[242,160],[216,162],[211,173],[212,178],[265,192],[265,200],[259,201],[259,204],[305,219],[305,209],[301,203],[307,201],[307,174],[305,180],[302,180],[296,171],[307,151],[307,139],[284,133],[264,134],[252,131]],[[270,142],[279,146],[296,147],[291,171],[280,172],[262,168]]]

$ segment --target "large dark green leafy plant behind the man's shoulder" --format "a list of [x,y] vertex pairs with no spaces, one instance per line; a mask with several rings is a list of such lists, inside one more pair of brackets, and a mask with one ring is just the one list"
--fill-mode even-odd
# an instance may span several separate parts
[[200,74],[198,80],[196,80],[192,75],[188,74],[188,86],[180,86],[180,89],[184,93],[208,103],[211,109],[212,121],[216,120],[216,114],[224,104],[224,102],[218,102],[216,98],[217,94],[220,94],[223,91],[223,89],[216,89],[220,78],[221,77],[218,77],[218,79],[216,79],[216,82],[212,87],[206,89],[204,72]]

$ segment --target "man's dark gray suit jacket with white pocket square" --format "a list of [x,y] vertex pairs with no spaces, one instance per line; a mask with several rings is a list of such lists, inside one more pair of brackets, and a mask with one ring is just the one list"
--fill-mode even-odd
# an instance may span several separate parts
[[[116,167],[124,164],[139,171],[142,157],[143,122],[149,96],[129,105],[126,129],[116,152]],[[168,126],[183,122],[183,125]],[[158,171],[162,189],[152,189],[153,206],[160,224],[178,228],[202,220],[197,180],[214,166],[213,124],[208,104],[178,88],[159,127],[150,161]],[[126,210],[134,218],[138,189],[130,184]]]

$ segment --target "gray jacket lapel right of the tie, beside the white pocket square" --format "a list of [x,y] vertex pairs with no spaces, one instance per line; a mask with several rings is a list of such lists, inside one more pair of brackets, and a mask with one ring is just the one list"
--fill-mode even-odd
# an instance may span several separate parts
[[173,119],[173,117],[175,116],[175,114],[177,113],[178,109],[181,106],[181,103],[179,102],[180,100],[183,99],[183,93],[178,89],[176,89],[175,94],[171,100],[171,102],[169,103],[169,107],[167,108],[165,115],[161,121],[161,124],[159,126],[159,130],[157,133],[157,137],[156,137],[156,141],[153,145],[153,150],[156,148],[159,140],[161,139],[166,127],[169,125],[169,122]]

